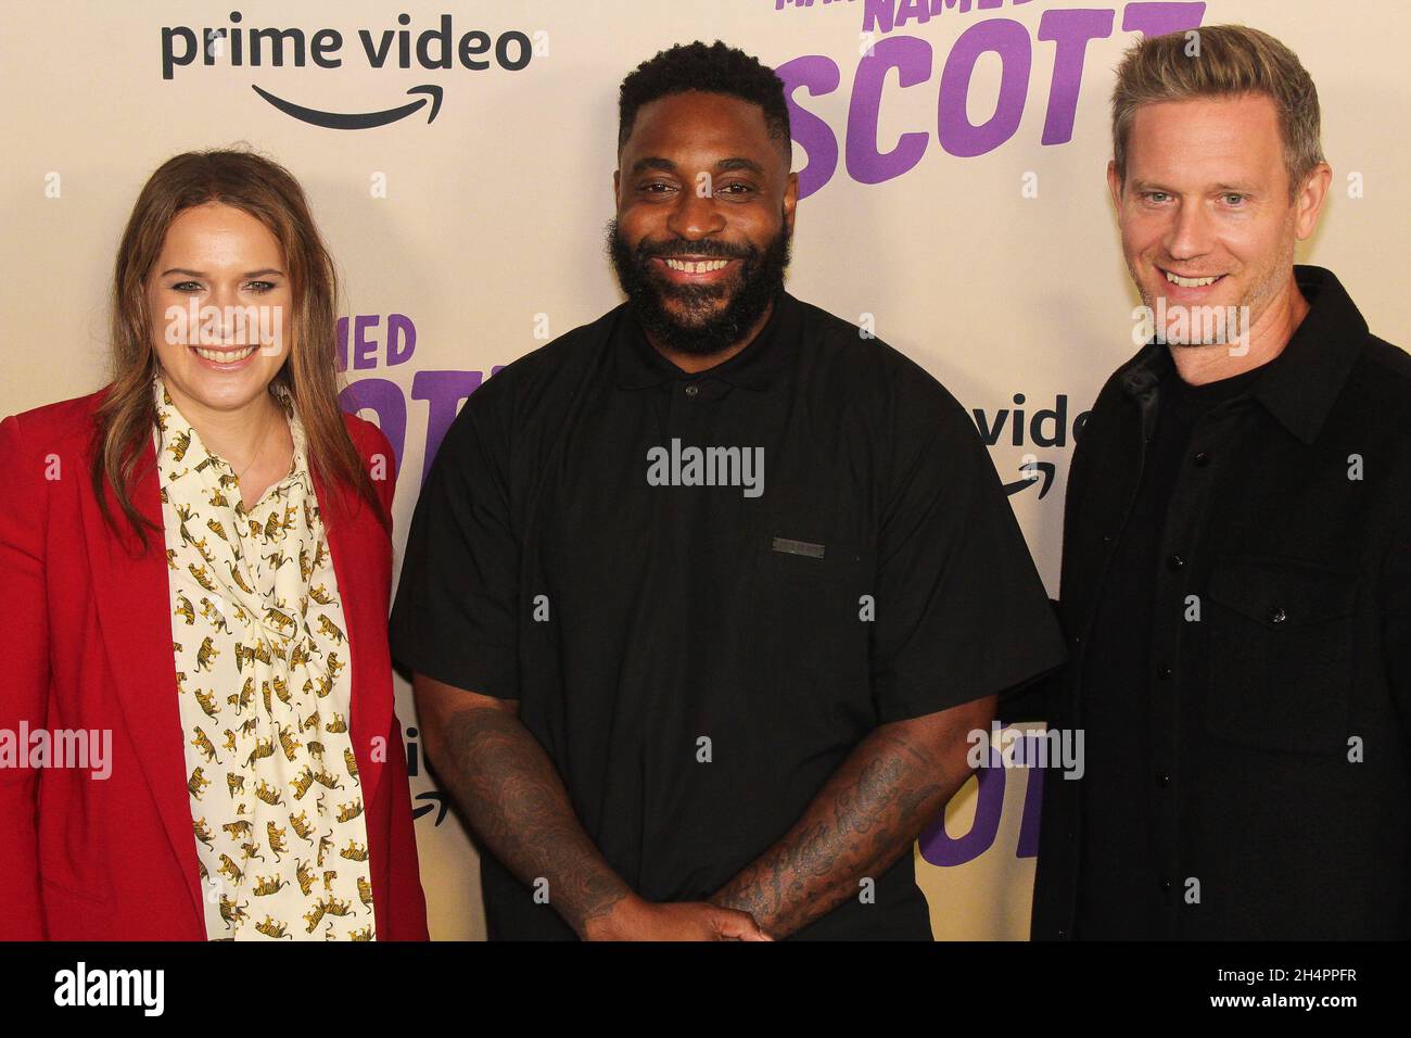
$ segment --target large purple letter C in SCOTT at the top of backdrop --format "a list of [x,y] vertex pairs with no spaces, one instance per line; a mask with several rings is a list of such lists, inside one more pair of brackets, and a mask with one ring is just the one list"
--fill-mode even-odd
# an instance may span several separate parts
[[888,37],[858,64],[848,106],[848,175],[858,184],[882,184],[921,161],[927,134],[903,133],[890,151],[878,151],[878,119],[886,73],[896,69],[903,88],[931,78],[931,45],[916,37]]

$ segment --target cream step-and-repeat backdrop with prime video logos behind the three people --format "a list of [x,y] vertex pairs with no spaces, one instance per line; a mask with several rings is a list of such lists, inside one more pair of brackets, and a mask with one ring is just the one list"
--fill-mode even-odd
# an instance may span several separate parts
[[[175,153],[248,144],[302,181],[343,274],[344,404],[396,449],[398,552],[466,398],[619,302],[602,247],[617,89],[676,42],[720,38],[779,71],[801,186],[790,291],[869,323],[972,411],[1051,595],[1075,435],[1134,352],[1105,167],[1112,69],[1139,32],[1237,21],[1300,54],[1335,174],[1300,258],[1411,343],[1401,0],[8,0],[4,16],[0,414],[106,381],[109,277],[141,184]],[[432,936],[480,938],[474,847],[396,695]],[[1038,780],[985,770],[923,833],[938,939],[1027,935]]]

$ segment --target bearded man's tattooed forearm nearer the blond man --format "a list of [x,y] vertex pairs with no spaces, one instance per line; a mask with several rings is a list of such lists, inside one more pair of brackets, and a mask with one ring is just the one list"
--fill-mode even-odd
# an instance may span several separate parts
[[787,936],[886,871],[969,777],[965,733],[983,727],[993,700],[883,724],[862,740],[803,818],[711,898]]

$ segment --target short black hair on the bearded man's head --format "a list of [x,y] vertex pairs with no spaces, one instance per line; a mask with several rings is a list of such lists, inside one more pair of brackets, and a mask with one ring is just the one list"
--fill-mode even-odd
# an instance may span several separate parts
[[724,93],[758,105],[765,110],[770,138],[782,141],[785,157],[793,162],[789,133],[789,103],[785,83],[772,68],[761,65],[739,48],[720,40],[707,47],[700,40],[658,51],[622,80],[618,95],[618,151],[632,136],[636,112],[643,105],[689,90]]

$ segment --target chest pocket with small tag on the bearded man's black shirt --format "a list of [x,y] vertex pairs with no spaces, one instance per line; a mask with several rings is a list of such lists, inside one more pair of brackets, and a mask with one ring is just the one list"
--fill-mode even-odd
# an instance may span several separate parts
[[868,703],[868,561],[855,544],[751,539],[746,665],[792,723],[856,720]]

